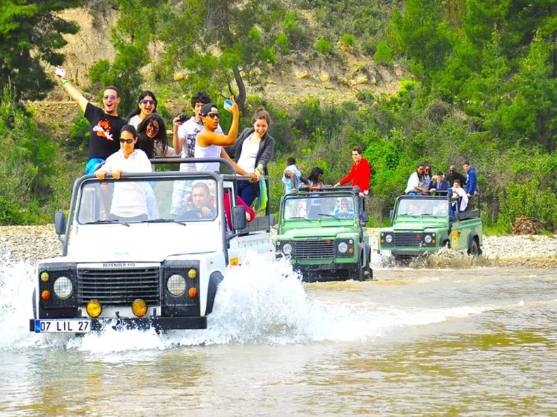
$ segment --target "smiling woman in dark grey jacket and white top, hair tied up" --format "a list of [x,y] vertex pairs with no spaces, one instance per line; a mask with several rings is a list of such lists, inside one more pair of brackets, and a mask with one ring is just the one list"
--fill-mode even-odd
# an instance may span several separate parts
[[[267,163],[274,152],[275,139],[267,132],[270,124],[269,113],[263,107],[257,108],[252,117],[252,127],[244,129],[236,142],[226,148],[238,166],[247,173],[255,173],[257,180],[267,172]],[[248,206],[257,197],[258,185],[258,182],[238,181],[238,194]]]

